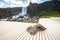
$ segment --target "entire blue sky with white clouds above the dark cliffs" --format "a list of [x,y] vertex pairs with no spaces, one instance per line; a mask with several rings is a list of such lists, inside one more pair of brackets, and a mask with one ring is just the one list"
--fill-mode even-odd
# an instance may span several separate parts
[[32,3],[42,3],[48,0],[0,0],[0,8],[7,8],[7,7],[26,7],[29,5],[29,2]]

